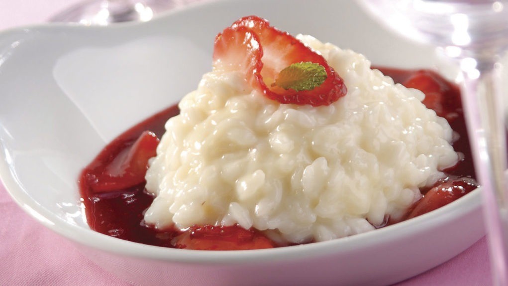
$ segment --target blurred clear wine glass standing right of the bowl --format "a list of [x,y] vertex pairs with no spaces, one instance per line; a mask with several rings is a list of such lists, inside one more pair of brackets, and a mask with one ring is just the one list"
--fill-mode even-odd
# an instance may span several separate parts
[[508,47],[506,0],[360,0],[380,22],[430,43],[460,70],[462,99],[482,185],[493,281],[508,285],[505,103],[499,62]]

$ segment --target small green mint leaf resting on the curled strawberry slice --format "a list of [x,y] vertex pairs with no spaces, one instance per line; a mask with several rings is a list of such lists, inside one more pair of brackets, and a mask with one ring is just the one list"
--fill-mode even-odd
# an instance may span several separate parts
[[312,62],[291,64],[280,71],[274,85],[284,90],[310,91],[319,87],[328,77],[325,67]]

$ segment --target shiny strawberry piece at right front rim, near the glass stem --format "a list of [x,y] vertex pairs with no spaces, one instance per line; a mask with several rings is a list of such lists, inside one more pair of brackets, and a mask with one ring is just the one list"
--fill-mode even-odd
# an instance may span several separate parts
[[431,188],[407,216],[413,218],[448,205],[478,187],[471,178],[447,180]]

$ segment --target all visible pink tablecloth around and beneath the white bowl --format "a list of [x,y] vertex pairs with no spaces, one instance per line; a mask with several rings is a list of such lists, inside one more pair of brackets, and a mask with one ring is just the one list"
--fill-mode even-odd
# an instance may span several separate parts
[[[0,0],[0,30],[43,22],[76,2]],[[24,213],[1,183],[0,214],[0,285],[128,285]],[[490,285],[491,281],[483,238],[451,261],[399,285]]]

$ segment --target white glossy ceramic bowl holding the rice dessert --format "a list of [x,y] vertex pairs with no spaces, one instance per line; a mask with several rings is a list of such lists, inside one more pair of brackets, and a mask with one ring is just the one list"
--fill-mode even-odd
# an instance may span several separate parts
[[433,50],[384,31],[350,1],[220,1],[147,23],[46,25],[0,34],[0,177],[27,213],[135,284],[390,284],[484,235],[475,190],[369,233],[267,250],[193,251],[89,229],[76,180],[108,141],[196,88],[215,35],[256,14],[290,33],[362,52],[376,65],[432,67]]

